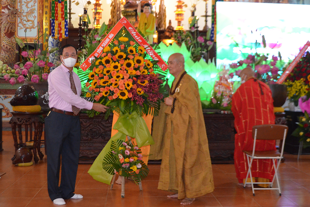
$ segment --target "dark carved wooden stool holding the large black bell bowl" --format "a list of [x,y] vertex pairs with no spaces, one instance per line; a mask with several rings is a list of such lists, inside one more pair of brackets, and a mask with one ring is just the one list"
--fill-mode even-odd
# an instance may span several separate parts
[[[10,124],[12,127],[12,134],[14,139],[14,146],[15,146],[15,152],[18,149],[19,145],[22,145],[25,142],[28,142],[28,127],[29,127],[29,140],[33,139],[33,146],[28,147],[29,149],[33,150],[33,160],[35,163],[38,163],[39,158],[40,160],[43,159],[43,153],[41,152],[40,146],[41,146],[41,137],[43,132],[43,124],[44,124],[44,118],[43,114],[45,112],[11,112],[13,117],[10,120]],[[22,135],[22,125],[25,127],[25,142],[23,141],[23,135]],[[34,133],[32,137],[32,125],[34,125]],[[16,126],[18,128],[18,139],[19,144],[17,142],[17,135],[16,135]],[[13,156],[12,160],[15,159],[15,155]]]

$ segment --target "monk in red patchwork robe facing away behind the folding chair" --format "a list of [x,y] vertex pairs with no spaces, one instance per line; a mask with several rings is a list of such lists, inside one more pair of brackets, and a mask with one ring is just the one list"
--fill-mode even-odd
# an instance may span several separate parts
[[[232,113],[235,117],[235,152],[234,161],[236,176],[239,185],[245,183],[248,171],[246,156],[242,150],[253,150],[254,139],[252,138],[252,128],[255,125],[274,124],[273,99],[268,85],[254,78],[252,68],[244,68],[239,76],[241,86],[232,95]],[[256,150],[276,150],[275,141],[257,140]],[[252,163],[252,176],[257,178],[257,182],[270,182],[274,175],[272,161],[254,159]],[[250,182],[250,178],[248,181]],[[253,181],[255,182],[255,181]],[[250,187],[250,184],[246,184]],[[258,184],[267,187],[266,184]]]

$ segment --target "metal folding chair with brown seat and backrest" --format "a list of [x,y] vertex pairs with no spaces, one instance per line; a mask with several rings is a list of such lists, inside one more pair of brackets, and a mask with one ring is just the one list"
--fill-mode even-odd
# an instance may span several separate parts
[[[246,154],[246,158],[249,165],[248,173],[246,174],[246,181],[249,174],[251,179],[251,182],[244,183],[243,187],[246,187],[246,184],[251,183],[253,196],[255,196],[254,190],[279,190],[279,195],[281,196],[281,189],[277,171],[279,169],[281,159],[283,158],[283,149],[287,130],[288,127],[286,125],[266,124],[266,125],[253,126],[252,131],[252,138],[254,139],[253,151],[245,151],[245,150],[243,151]],[[283,140],[281,152],[279,152],[278,150],[255,151],[256,140],[277,140],[277,139]],[[253,159],[272,159],[273,167],[275,170],[272,182],[266,182],[266,183],[253,182],[251,173]],[[272,188],[274,178],[277,179],[277,188]],[[270,188],[254,188],[253,184],[269,184]]]

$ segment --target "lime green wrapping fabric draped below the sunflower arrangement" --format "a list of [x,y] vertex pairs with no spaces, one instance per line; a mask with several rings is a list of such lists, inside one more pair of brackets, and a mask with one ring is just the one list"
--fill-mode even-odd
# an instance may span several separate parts
[[108,174],[102,168],[103,158],[110,151],[111,142],[121,139],[126,140],[126,135],[131,138],[135,138],[139,148],[154,144],[153,138],[148,130],[148,127],[142,117],[139,117],[136,112],[132,114],[120,115],[113,126],[113,129],[118,130],[118,132],[111,137],[105,147],[102,149],[98,157],[95,159],[88,173],[97,181],[111,184],[113,175]]

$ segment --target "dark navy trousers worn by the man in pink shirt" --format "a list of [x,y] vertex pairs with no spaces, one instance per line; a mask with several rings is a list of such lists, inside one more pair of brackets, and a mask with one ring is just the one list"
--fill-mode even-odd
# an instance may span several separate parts
[[[47,190],[51,200],[74,195],[80,153],[79,116],[53,112],[45,118],[47,147]],[[61,180],[59,183],[61,156]]]

